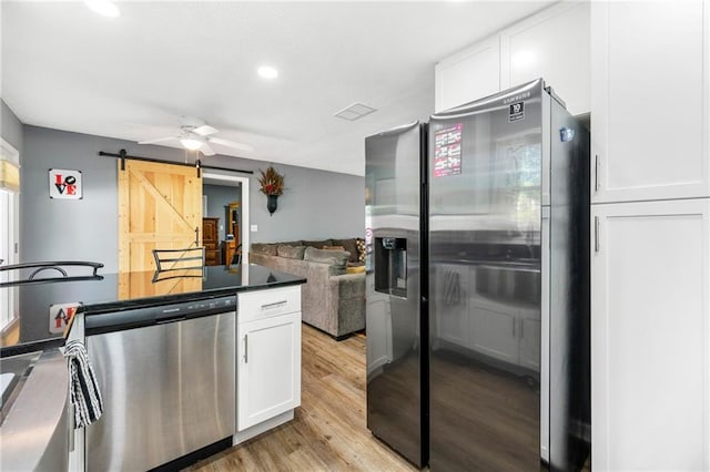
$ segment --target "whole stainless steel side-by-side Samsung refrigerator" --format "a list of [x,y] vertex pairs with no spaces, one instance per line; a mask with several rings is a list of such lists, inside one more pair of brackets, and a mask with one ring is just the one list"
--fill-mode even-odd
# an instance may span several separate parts
[[589,455],[589,135],[536,80],[366,138],[367,427],[433,471]]

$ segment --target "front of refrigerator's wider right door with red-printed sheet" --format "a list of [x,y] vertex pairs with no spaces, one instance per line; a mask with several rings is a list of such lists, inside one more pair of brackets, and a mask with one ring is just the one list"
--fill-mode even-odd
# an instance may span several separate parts
[[432,470],[540,463],[542,81],[432,116]]

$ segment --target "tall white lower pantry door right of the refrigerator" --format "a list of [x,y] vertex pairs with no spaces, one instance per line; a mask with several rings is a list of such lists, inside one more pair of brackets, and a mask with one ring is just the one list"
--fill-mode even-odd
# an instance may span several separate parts
[[710,470],[710,199],[591,214],[591,462]]

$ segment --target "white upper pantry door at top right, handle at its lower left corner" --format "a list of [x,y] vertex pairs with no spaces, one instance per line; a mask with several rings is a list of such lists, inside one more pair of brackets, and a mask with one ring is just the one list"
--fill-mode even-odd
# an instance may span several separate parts
[[710,2],[591,2],[591,199],[710,195]]

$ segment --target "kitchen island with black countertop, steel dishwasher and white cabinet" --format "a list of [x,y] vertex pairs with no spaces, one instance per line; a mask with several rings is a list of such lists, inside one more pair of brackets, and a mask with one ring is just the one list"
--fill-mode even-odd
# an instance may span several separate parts
[[[49,306],[81,302],[67,339],[85,342],[105,410],[77,430],[70,469],[183,466],[292,419],[303,283],[251,265],[17,287],[27,345],[51,328]],[[14,432],[0,432],[4,455]]]

